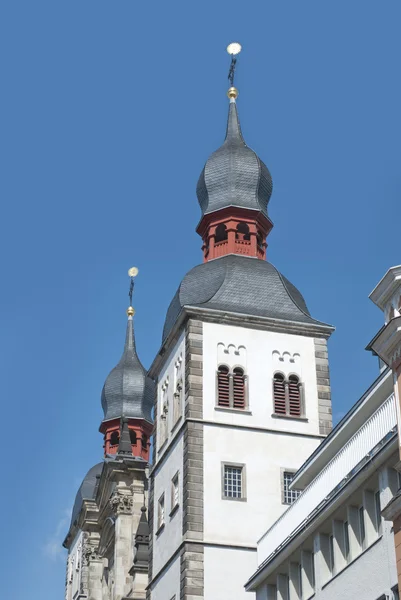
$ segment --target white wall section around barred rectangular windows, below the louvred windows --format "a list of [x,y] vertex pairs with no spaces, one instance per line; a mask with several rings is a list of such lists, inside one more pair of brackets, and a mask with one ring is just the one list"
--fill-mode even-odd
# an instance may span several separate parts
[[[205,425],[205,541],[256,546],[288,508],[281,503],[281,468],[297,470],[319,443],[304,436]],[[246,502],[222,499],[222,462],[245,464]]]

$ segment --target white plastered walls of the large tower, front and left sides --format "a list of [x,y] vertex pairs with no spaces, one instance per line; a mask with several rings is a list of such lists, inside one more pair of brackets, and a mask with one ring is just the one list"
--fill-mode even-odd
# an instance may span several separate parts
[[[200,323],[200,322],[198,322]],[[256,541],[287,508],[283,503],[283,471],[294,473],[324,439],[319,430],[316,348],[313,336],[279,333],[242,325],[204,321],[195,333],[199,356],[182,377],[182,417],[173,418],[177,364],[185,373],[184,331],[164,358],[157,377],[157,439],[153,480],[151,598],[178,598],[185,571],[185,544],[196,554],[195,576],[203,597],[247,598],[244,583],[257,566]],[[195,350],[194,350],[195,352]],[[198,360],[199,359],[199,360]],[[193,363],[193,364],[195,364]],[[244,409],[217,406],[217,369],[241,367],[246,376]],[[153,368],[153,367],[152,367]],[[301,417],[274,414],[273,375],[297,375],[303,386]],[[190,383],[188,383],[188,381]],[[192,382],[192,383],[191,383]],[[187,418],[185,402],[195,385],[201,393],[196,418]],[[188,413],[189,414],[189,413]],[[161,423],[161,418],[165,423]],[[168,426],[166,427],[166,424]],[[189,424],[201,427],[201,453],[190,462],[198,474],[185,475]],[[162,429],[165,427],[165,429]],[[195,440],[196,441],[196,440]],[[224,466],[242,469],[242,497],[224,497]],[[179,475],[180,505],[170,516],[172,479]],[[199,501],[185,508],[188,481],[199,479]],[[200,483],[201,482],[201,483]],[[160,500],[164,521],[160,522]],[[185,514],[199,528],[185,533]],[[201,555],[201,558],[199,558]],[[181,557],[181,558],[180,558]],[[181,567],[180,567],[181,564]],[[194,559],[195,565],[195,559]],[[193,567],[195,569],[195,566]],[[191,579],[191,578],[189,578]],[[202,582],[202,583],[200,583]],[[188,594],[190,595],[190,593]],[[182,596],[181,596],[182,597]]]

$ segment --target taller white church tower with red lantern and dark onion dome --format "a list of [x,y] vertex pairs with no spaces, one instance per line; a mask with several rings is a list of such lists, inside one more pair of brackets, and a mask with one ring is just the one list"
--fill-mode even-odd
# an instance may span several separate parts
[[152,600],[249,598],[257,539],[331,430],[333,328],[265,260],[272,179],[244,141],[233,81],[228,96],[224,143],[197,186],[204,262],[179,285],[150,369]]

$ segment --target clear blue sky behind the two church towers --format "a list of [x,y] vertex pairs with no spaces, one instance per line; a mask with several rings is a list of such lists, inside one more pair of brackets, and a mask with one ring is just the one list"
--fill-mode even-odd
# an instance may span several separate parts
[[268,258],[337,328],[337,420],[376,376],[368,294],[400,262],[400,19],[396,0],[2,3],[4,597],[63,597],[127,269],[149,366],[202,260],[195,187],[224,137],[232,40],[244,137],[274,181]]

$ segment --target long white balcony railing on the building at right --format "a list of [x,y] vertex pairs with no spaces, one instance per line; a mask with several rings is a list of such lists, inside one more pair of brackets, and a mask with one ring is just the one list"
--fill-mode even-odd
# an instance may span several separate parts
[[267,530],[258,542],[258,564],[266,560],[278,546],[302,527],[305,519],[340,484],[352,476],[366,457],[397,426],[397,407],[394,394],[365,421],[342,449],[329,461],[299,498]]

